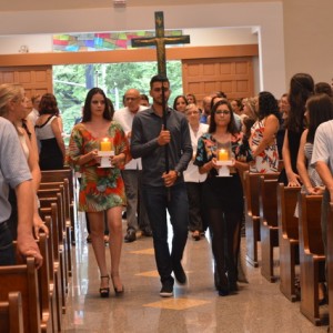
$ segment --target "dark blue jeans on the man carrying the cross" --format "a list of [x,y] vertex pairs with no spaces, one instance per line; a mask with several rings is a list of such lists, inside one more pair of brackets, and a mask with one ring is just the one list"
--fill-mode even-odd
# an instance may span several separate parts
[[[184,183],[168,189],[164,186],[143,186],[143,199],[153,233],[155,261],[161,282],[173,281],[173,265],[180,263],[188,240],[189,203]],[[173,229],[171,253],[168,244],[167,210]]]

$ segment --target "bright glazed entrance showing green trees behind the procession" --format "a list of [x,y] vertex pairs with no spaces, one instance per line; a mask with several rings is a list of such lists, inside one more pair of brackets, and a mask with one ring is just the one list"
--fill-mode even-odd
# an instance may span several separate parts
[[[169,61],[167,68],[172,90],[169,104],[172,105],[174,98],[182,94],[181,62]],[[103,89],[117,110],[122,108],[122,97],[130,88],[149,95],[149,82],[155,73],[155,62],[54,65],[53,89],[65,134],[70,134],[75,119],[81,117],[81,108],[91,88]]]

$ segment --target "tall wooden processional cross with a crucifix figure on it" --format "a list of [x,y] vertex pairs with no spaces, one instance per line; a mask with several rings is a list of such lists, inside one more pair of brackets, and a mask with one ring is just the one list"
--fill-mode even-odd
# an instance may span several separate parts
[[132,48],[157,47],[159,74],[167,78],[165,44],[190,43],[190,36],[164,36],[164,16],[155,11],[155,37],[134,38]]

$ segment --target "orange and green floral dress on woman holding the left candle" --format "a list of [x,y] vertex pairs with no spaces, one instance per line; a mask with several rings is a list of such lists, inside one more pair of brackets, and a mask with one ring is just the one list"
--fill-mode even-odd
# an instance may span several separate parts
[[[121,125],[114,121],[108,130],[113,139],[114,154],[129,155],[129,142]],[[78,168],[81,155],[99,149],[101,138],[94,138],[84,127],[77,124],[71,133],[68,161],[81,172],[79,211],[100,212],[125,203],[124,184],[119,168],[99,168],[94,160]]]

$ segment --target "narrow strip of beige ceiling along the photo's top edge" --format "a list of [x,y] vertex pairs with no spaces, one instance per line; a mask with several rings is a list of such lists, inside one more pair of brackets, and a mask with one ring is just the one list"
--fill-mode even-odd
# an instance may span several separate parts
[[[238,2],[276,2],[276,0],[236,0]],[[279,1],[279,0],[278,0]],[[281,0],[282,1],[282,0]],[[233,2],[233,0],[208,0],[205,3]],[[202,0],[127,0],[127,7],[143,6],[175,6],[202,4]],[[65,10],[84,8],[110,8],[113,0],[1,0],[1,11],[29,11],[29,10]]]

